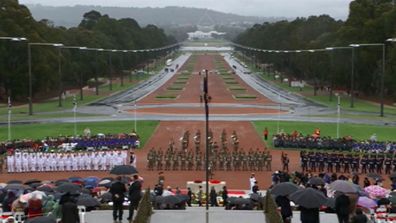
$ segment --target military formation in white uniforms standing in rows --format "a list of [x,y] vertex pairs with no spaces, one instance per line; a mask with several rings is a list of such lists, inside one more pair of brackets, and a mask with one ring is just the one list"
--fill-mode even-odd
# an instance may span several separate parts
[[108,171],[125,165],[128,151],[98,151],[75,153],[16,152],[6,158],[8,173],[56,171]]

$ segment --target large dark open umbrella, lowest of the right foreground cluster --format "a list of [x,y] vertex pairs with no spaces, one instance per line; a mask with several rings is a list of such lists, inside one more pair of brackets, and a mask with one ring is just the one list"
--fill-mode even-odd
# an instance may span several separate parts
[[290,200],[305,208],[319,208],[327,202],[324,194],[313,188],[300,189],[292,193]]

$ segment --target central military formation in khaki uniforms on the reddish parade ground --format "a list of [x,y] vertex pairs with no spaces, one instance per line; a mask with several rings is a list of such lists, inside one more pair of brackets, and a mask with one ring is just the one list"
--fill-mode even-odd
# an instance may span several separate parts
[[[201,132],[198,130],[194,137],[194,149],[189,149],[190,133],[186,131],[180,138],[180,149],[170,140],[168,148],[151,148],[147,154],[148,170],[203,170],[206,154],[201,151]],[[220,136],[220,143],[214,141],[213,132],[209,131],[209,170],[210,171],[270,171],[272,156],[266,149],[250,148],[245,151],[239,148],[239,139],[235,131],[230,140],[225,130]],[[230,142],[230,143],[228,143]],[[204,143],[203,143],[204,144]],[[230,144],[231,146],[229,146]],[[205,144],[204,144],[205,145]],[[229,148],[230,147],[230,148]]]

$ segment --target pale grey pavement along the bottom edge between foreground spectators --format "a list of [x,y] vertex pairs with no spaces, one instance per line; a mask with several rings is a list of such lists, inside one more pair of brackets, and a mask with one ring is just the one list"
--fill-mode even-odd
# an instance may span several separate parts
[[[206,218],[206,210],[203,207],[192,207],[186,210],[154,210],[151,216],[151,223],[265,223],[263,211],[245,211],[245,210],[224,210],[222,207],[210,207],[208,213],[208,221]],[[124,211],[124,219],[128,211]],[[86,214],[86,223],[111,223],[111,211],[92,211]],[[127,223],[126,220],[123,222]],[[293,212],[292,223],[300,223],[300,212]],[[333,223],[337,222],[335,214],[320,213],[320,222]]]

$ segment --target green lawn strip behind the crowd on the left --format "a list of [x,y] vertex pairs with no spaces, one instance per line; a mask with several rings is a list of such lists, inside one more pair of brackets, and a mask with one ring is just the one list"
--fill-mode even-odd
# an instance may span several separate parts
[[[137,133],[141,138],[143,146],[154,133],[158,121],[137,121]],[[98,133],[130,133],[134,128],[133,121],[114,121],[114,122],[86,122],[77,123],[77,133],[82,134],[84,129],[91,129],[92,135]],[[26,124],[12,126],[13,139],[42,139],[46,136],[73,135],[73,123],[50,123],[50,124]],[[7,126],[0,126],[0,141],[7,139]]]

